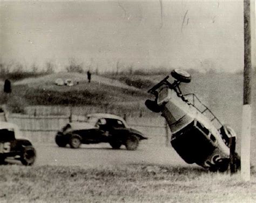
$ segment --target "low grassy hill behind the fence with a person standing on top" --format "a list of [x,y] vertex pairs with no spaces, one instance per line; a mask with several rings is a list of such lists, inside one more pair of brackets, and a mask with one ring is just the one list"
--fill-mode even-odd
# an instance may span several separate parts
[[[71,79],[74,86],[57,86],[56,79]],[[3,83],[2,83],[3,84]],[[128,85],[118,79],[92,76],[87,82],[85,73],[52,73],[41,77],[30,77],[12,83],[12,93],[6,95],[1,90],[1,103],[8,104],[11,111],[23,112],[25,106],[105,106],[134,109],[134,104],[142,104],[146,91]]]

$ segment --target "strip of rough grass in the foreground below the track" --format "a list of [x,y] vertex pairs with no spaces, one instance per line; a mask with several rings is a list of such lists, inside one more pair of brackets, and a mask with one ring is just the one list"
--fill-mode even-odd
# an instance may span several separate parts
[[0,167],[0,202],[255,202],[256,177],[129,165]]

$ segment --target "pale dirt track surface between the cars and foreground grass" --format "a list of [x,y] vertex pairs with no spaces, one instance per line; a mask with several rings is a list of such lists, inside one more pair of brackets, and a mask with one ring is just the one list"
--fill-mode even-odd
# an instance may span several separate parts
[[187,166],[172,147],[155,146],[140,143],[136,151],[127,151],[124,146],[120,150],[113,150],[109,144],[82,145],[78,149],[69,147],[58,147],[56,144],[35,144],[37,150],[37,160],[35,165],[57,165],[57,166],[119,166],[129,164],[149,164],[149,165],[170,165]]

